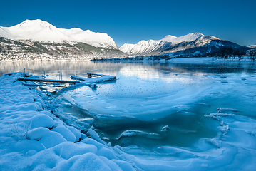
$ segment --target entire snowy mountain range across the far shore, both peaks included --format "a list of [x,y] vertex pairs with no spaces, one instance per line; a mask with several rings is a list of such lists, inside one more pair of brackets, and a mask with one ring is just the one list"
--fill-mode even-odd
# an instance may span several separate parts
[[[254,46],[253,46],[254,47]],[[140,41],[118,48],[107,33],[95,33],[80,28],[56,28],[46,21],[26,20],[11,27],[0,26],[0,52],[48,53],[51,55],[106,56],[213,56],[245,54],[250,47],[224,41],[202,33],[175,37],[167,35],[155,41]]]

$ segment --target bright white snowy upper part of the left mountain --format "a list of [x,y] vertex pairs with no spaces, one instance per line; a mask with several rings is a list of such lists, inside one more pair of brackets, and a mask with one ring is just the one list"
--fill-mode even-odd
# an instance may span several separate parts
[[95,47],[118,49],[113,38],[106,33],[83,31],[80,28],[56,28],[46,21],[26,20],[11,27],[0,26],[0,37],[12,40],[31,40],[51,43],[65,43],[68,41],[83,42]]

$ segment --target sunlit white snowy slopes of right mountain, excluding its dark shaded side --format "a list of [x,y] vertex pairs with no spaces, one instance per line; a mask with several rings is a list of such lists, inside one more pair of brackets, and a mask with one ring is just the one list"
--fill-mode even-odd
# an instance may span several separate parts
[[[175,37],[167,35],[159,41],[140,41],[137,44],[124,44],[119,49],[124,53],[130,55],[148,55],[158,54],[162,51],[166,51],[182,42],[193,42],[198,39],[205,40],[220,40],[220,38],[214,36],[204,36],[202,33],[189,33],[185,36]],[[185,50],[185,49],[184,49]]]

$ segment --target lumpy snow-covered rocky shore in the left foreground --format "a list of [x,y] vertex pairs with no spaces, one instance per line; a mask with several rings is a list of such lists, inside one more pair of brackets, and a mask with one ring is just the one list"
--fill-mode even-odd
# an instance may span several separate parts
[[0,77],[0,170],[135,170],[118,147],[87,138],[50,111],[39,93]]

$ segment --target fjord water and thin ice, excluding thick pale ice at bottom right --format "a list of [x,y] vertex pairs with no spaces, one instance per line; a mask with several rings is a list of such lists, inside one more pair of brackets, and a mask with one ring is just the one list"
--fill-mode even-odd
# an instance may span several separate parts
[[[220,122],[205,115],[220,108],[255,119],[256,65],[250,62],[0,63],[1,74],[26,71],[69,79],[101,73],[116,81],[82,86],[54,96],[60,115],[88,123],[102,140],[122,147],[193,147],[220,134]],[[234,112],[235,111],[235,112]],[[90,136],[90,133],[88,133]]]

